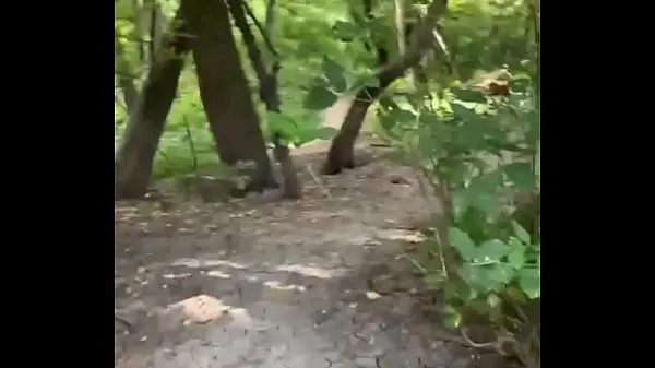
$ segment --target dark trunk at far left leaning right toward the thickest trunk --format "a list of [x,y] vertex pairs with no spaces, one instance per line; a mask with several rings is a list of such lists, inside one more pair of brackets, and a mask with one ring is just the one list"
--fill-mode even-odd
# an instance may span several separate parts
[[168,35],[163,52],[174,56],[158,58],[147,75],[136,106],[130,114],[115,163],[115,194],[121,198],[143,198],[153,169],[153,159],[166,117],[175,99],[183,56],[189,51],[189,40],[181,37],[182,22],[176,16],[176,28]]

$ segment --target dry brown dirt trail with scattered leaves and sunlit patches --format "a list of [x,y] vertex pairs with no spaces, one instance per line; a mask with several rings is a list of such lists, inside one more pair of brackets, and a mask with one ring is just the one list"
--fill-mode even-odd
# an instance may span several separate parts
[[[406,167],[301,176],[298,202],[117,203],[117,367],[502,367],[451,341],[398,257],[427,216]],[[169,307],[199,295],[206,321]]]

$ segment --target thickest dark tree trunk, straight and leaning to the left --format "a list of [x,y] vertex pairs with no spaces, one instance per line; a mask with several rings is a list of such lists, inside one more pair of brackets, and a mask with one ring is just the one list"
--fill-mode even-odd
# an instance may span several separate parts
[[181,9],[192,35],[200,98],[221,161],[227,165],[254,162],[248,190],[276,188],[227,5],[222,0],[182,0]]

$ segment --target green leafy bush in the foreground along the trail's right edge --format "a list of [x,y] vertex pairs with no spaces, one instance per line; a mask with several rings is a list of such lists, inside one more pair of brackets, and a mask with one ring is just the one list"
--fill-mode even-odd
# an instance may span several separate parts
[[484,318],[536,367],[538,317],[528,311],[540,298],[538,94],[526,73],[510,86],[509,96],[452,87],[412,108],[388,96],[378,114],[444,207],[421,261],[428,285],[444,292],[448,322]]

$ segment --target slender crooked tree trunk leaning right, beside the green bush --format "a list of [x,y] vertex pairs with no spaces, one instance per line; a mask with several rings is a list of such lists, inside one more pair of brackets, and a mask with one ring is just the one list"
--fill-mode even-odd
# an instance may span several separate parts
[[355,167],[355,141],[359,135],[359,130],[361,129],[361,123],[369,106],[393,81],[403,76],[407,69],[417,64],[425,52],[432,46],[434,23],[443,15],[446,5],[448,0],[433,0],[428,7],[428,13],[417,25],[416,38],[407,52],[380,70],[378,73],[379,86],[366,86],[357,93],[355,102],[344,118],[344,123],[338,134],[332,140],[327,158],[323,166],[323,174],[336,175],[344,168]]

